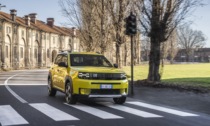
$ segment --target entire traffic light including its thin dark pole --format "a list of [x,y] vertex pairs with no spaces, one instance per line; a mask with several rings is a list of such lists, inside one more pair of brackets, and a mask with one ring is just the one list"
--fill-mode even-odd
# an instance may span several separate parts
[[131,12],[130,15],[125,19],[126,21],[126,31],[125,34],[130,36],[131,38],[131,95],[134,95],[133,91],[133,37],[137,33],[137,23],[136,23],[136,16]]

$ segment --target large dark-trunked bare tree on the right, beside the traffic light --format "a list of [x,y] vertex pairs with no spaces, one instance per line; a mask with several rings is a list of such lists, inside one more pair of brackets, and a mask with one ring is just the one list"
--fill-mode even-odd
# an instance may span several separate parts
[[159,82],[161,43],[168,40],[174,29],[183,22],[201,0],[139,0],[140,19],[144,33],[150,37],[148,81]]

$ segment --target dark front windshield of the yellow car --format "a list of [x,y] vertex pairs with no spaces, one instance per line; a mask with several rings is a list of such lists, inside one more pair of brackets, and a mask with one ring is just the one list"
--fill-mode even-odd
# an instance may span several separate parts
[[71,66],[112,67],[103,55],[71,54]]

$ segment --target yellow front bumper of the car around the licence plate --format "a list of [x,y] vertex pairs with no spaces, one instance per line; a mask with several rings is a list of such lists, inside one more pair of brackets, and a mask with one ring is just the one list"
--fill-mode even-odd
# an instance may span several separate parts
[[[119,98],[128,94],[128,80],[76,79],[73,82],[74,94],[89,98]],[[101,85],[111,85],[111,88],[102,89]]]

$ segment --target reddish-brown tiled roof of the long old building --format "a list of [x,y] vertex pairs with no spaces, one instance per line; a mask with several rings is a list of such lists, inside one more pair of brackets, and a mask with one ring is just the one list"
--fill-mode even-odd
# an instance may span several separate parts
[[[72,29],[70,28],[63,28],[59,27],[56,25],[53,25],[53,27],[47,25],[45,22],[37,20],[36,23],[33,23],[32,21],[30,22],[30,26],[26,25],[25,23],[25,18],[23,17],[18,17],[16,16],[15,22],[12,20],[11,15],[5,12],[0,11],[0,19],[6,20],[7,22],[10,23],[17,23],[23,27],[30,27],[32,29],[38,29],[44,32],[49,32],[49,33],[55,33],[59,35],[65,35],[65,36],[73,36]],[[69,30],[67,30],[69,29]]]

